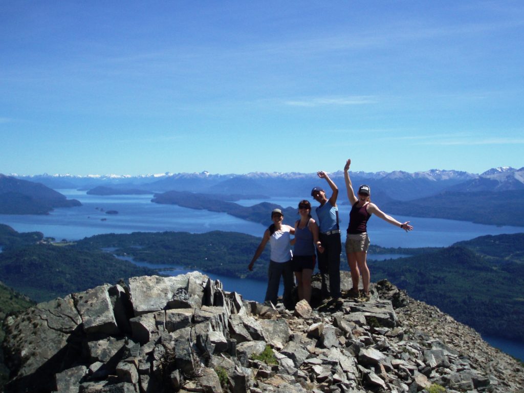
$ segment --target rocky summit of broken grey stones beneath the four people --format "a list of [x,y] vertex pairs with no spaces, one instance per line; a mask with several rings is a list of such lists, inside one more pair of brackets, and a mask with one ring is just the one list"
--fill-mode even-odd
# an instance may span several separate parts
[[522,363],[388,281],[313,305],[247,301],[196,271],[73,293],[6,318],[5,391],[524,392]]

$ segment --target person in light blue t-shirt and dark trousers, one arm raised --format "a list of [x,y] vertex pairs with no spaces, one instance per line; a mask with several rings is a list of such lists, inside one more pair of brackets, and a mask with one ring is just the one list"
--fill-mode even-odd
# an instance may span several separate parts
[[328,173],[324,171],[316,172],[319,178],[328,182],[331,188],[331,196],[328,199],[326,192],[321,187],[314,187],[311,190],[311,196],[315,201],[320,203],[316,208],[316,215],[319,219],[319,238],[324,252],[318,254],[319,270],[322,276],[322,296],[327,297],[326,278],[329,276],[329,294],[333,300],[340,300],[340,254],[342,244],[340,240],[339,228],[339,208],[336,205],[339,188]]

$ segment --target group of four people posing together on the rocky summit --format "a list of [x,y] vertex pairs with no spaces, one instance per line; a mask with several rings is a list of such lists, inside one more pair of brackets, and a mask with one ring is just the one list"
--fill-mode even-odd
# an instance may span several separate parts
[[[382,212],[378,206],[370,200],[370,188],[361,185],[357,195],[353,191],[350,179],[351,160],[346,161],[344,166],[344,179],[346,183],[347,198],[351,203],[350,224],[347,228],[346,255],[347,263],[351,269],[353,288],[348,292],[351,297],[359,297],[358,285],[362,274],[363,297],[369,298],[370,274],[366,263],[367,249],[369,247],[369,236],[367,235],[367,221],[372,214],[380,219],[396,225],[403,230],[411,231],[413,227],[409,221],[401,223],[390,215]],[[327,173],[317,172],[319,178],[325,179],[331,188],[331,196],[328,198],[321,187],[314,187],[311,196],[320,203],[316,208],[319,223],[311,217],[311,204],[307,200],[299,202],[298,209],[300,219],[294,227],[283,224],[283,214],[280,209],[271,212],[273,222],[264,232],[253,259],[248,269],[253,270],[255,261],[263,253],[269,242],[271,252],[268,268],[268,285],[265,301],[277,304],[278,288],[280,278],[284,281],[283,302],[287,308],[292,308],[291,291],[297,280],[298,298],[311,302],[311,277],[315,267],[316,256],[319,261],[319,271],[322,277],[322,297],[329,296],[333,300],[341,299],[340,290],[340,255],[342,252],[341,231],[339,227],[339,208],[336,200],[339,189]],[[294,235],[291,239],[290,235]],[[291,246],[294,245],[294,254]],[[315,256],[316,248],[316,256]],[[294,272],[294,277],[293,277]],[[329,292],[326,281],[329,277]]]

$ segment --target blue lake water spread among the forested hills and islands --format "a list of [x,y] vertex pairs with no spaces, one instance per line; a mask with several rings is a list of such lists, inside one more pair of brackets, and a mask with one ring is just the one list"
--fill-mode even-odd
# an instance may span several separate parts
[[[225,213],[192,210],[176,205],[151,203],[152,195],[88,195],[78,190],[58,190],[68,198],[78,199],[82,206],[56,209],[49,215],[5,215],[0,214],[0,223],[12,226],[18,232],[39,231],[57,240],[76,240],[104,233],[184,231],[203,233],[209,231],[242,232],[261,237],[266,225],[237,219]],[[304,198],[277,198],[269,202],[281,206],[297,206]],[[248,206],[266,200],[243,200],[237,203]],[[313,202],[313,201],[312,201]],[[313,206],[316,203],[312,203]],[[341,227],[348,224],[349,205],[339,205]],[[116,210],[118,214],[105,212]],[[270,212],[268,223],[270,224]],[[406,233],[399,228],[372,217],[368,227],[372,244],[384,247],[444,247],[455,242],[483,235],[498,235],[524,232],[524,227],[473,224],[464,221],[424,219],[420,217],[395,216],[399,221],[411,221],[414,231]],[[343,241],[345,233],[342,231]],[[253,250],[254,251],[254,250]],[[393,256],[370,256],[382,259]],[[165,266],[162,266],[165,268]],[[168,274],[185,271],[169,270]],[[266,291],[263,281],[235,279],[210,275],[220,279],[229,291],[242,293],[246,299],[262,301]],[[486,337],[487,341],[505,352],[524,359],[524,344]]]

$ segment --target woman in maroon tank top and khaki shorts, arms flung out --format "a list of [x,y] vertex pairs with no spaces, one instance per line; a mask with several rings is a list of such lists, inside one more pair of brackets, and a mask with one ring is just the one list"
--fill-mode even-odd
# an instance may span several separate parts
[[363,299],[369,299],[369,282],[370,273],[367,267],[367,249],[369,247],[369,236],[367,235],[367,222],[372,214],[380,219],[402,228],[406,232],[413,230],[409,221],[405,223],[398,222],[390,215],[381,211],[378,206],[371,202],[371,190],[368,185],[363,184],[358,188],[358,198],[353,192],[353,185],[350,179],[351,159],[346,161],[344,166],[344,179],[346,182],[347,199],[350,201],[352,208],[350,212],[350,225],[347,228],[346,254],[347,264],[351,269],[351,280],[353,288],[350,290],[350,296],[359,297],[358,283],[362,274],[362,286],[364,289]]

